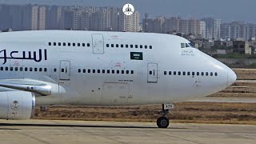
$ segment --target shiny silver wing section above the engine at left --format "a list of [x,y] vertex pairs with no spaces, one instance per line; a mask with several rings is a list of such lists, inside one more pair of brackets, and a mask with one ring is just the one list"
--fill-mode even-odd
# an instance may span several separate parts
[[28,91],[40,96],[47,96],[51,94],[51,86],[49,82],[35,81],[33,79],[2,79],[0,86],[14,89]]

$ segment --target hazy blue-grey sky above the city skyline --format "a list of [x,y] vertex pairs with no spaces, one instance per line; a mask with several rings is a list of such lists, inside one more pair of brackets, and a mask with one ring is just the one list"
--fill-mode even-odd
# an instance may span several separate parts
[[244,21],[256,23],[256,0],[0,0],[0,3],[76,6],[134,5],[144,18],[158,15],[182,18],[221,18],[224,22]]

